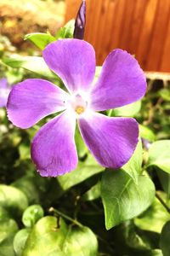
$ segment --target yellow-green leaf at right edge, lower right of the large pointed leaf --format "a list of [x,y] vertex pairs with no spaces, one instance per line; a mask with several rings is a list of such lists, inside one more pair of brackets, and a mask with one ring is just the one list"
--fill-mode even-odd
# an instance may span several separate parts
[[[161,198],[166,201],[166,195],[160,193]],[[155,198],[152,205],[141,215],[139,218],[135,218],[134,223],[141,230],[149,230],[152,232],[161,233],[163,225],[170,220],[170,214],[165,207],[161,205],[161,202]]]

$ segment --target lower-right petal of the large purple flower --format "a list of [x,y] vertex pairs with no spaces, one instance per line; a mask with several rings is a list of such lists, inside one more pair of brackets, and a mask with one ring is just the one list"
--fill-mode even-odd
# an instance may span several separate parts
[[91,113],[78,123],[82,138],[101,166],[120,168],[132,156],[139,137],[135,119]]

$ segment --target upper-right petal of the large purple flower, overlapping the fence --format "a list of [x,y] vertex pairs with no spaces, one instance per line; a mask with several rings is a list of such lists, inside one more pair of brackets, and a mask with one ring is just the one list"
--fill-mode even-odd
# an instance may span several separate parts
[[132,55],[122,49],[111,52],[91,92],[91,108],[103,111],[138,101],[146,91],[144,72]]

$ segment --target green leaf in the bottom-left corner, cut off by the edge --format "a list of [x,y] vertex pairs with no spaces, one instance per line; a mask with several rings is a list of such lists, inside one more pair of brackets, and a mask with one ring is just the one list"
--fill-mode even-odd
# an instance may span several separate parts
[[13,239],[18,231],[18,225],[12,218],[0,219],[0,255],[15,256]]

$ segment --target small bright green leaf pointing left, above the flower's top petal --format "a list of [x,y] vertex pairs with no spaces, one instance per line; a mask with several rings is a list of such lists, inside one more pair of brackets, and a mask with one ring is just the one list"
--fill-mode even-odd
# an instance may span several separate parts
[[54,38],[50,33],[31,33],[27,34],[24,40],[29,40],[39,49],[44,49],[48,44],[56,41],[56,38]]

